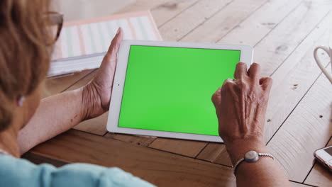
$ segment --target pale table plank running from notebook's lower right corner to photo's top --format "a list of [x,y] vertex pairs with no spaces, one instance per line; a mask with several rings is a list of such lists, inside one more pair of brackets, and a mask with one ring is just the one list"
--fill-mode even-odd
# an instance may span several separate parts
[[233,0],[201,0],[160,27],[164,40],[177,41]]

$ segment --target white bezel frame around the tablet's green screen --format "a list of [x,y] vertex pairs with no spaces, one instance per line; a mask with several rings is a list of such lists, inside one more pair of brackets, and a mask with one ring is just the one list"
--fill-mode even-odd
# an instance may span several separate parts
[[[128,57],[131,45],[158,46],[158,47],[188,47],[199,49],[214,50],[240,50],[240,62],[245,62],[248,67],[253,62],[253,47],[248,45],[222,45],[206,43],[187,43],[187,42],[161,42],[161,41],[140,41],[123,40],[118,51],[118,62],[116,64],[116,74],[114,76],[114,86],[111,95],[109,108],[109,118],[107,120],[107,130],[109,132],[126,133],[131,135],[148,135],[157,137],[171,137],[186,140],[200,140],[209,142],[223,142],[221,137],[213,135],[197,135],[182,132],[167,132],[159,130],[143,130],[135,128],[119,128],[118,118],[120,115],[121,102],[123,96],[123,86],[126,78]],[[211,103],[212,104],[212,103]]]

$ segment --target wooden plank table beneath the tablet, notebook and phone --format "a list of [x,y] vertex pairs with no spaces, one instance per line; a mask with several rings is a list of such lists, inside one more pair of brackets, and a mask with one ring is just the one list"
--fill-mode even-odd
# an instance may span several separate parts
[[[313,157],[332,144],[332,86],[313,57],[314,47],[328,44],[331,7],[331,0],[138,0],[119,12],[150,9],[164,40],[253,45],[263,76],[273,78],[267,147],[294,186],[331,186],[332,174]],[[84,86],[95,74],[48,79],[45,96]],[[113,134],[106,118],[80,123],[25,157],[118,166],[157,186],[235,186],[223,144]]]

